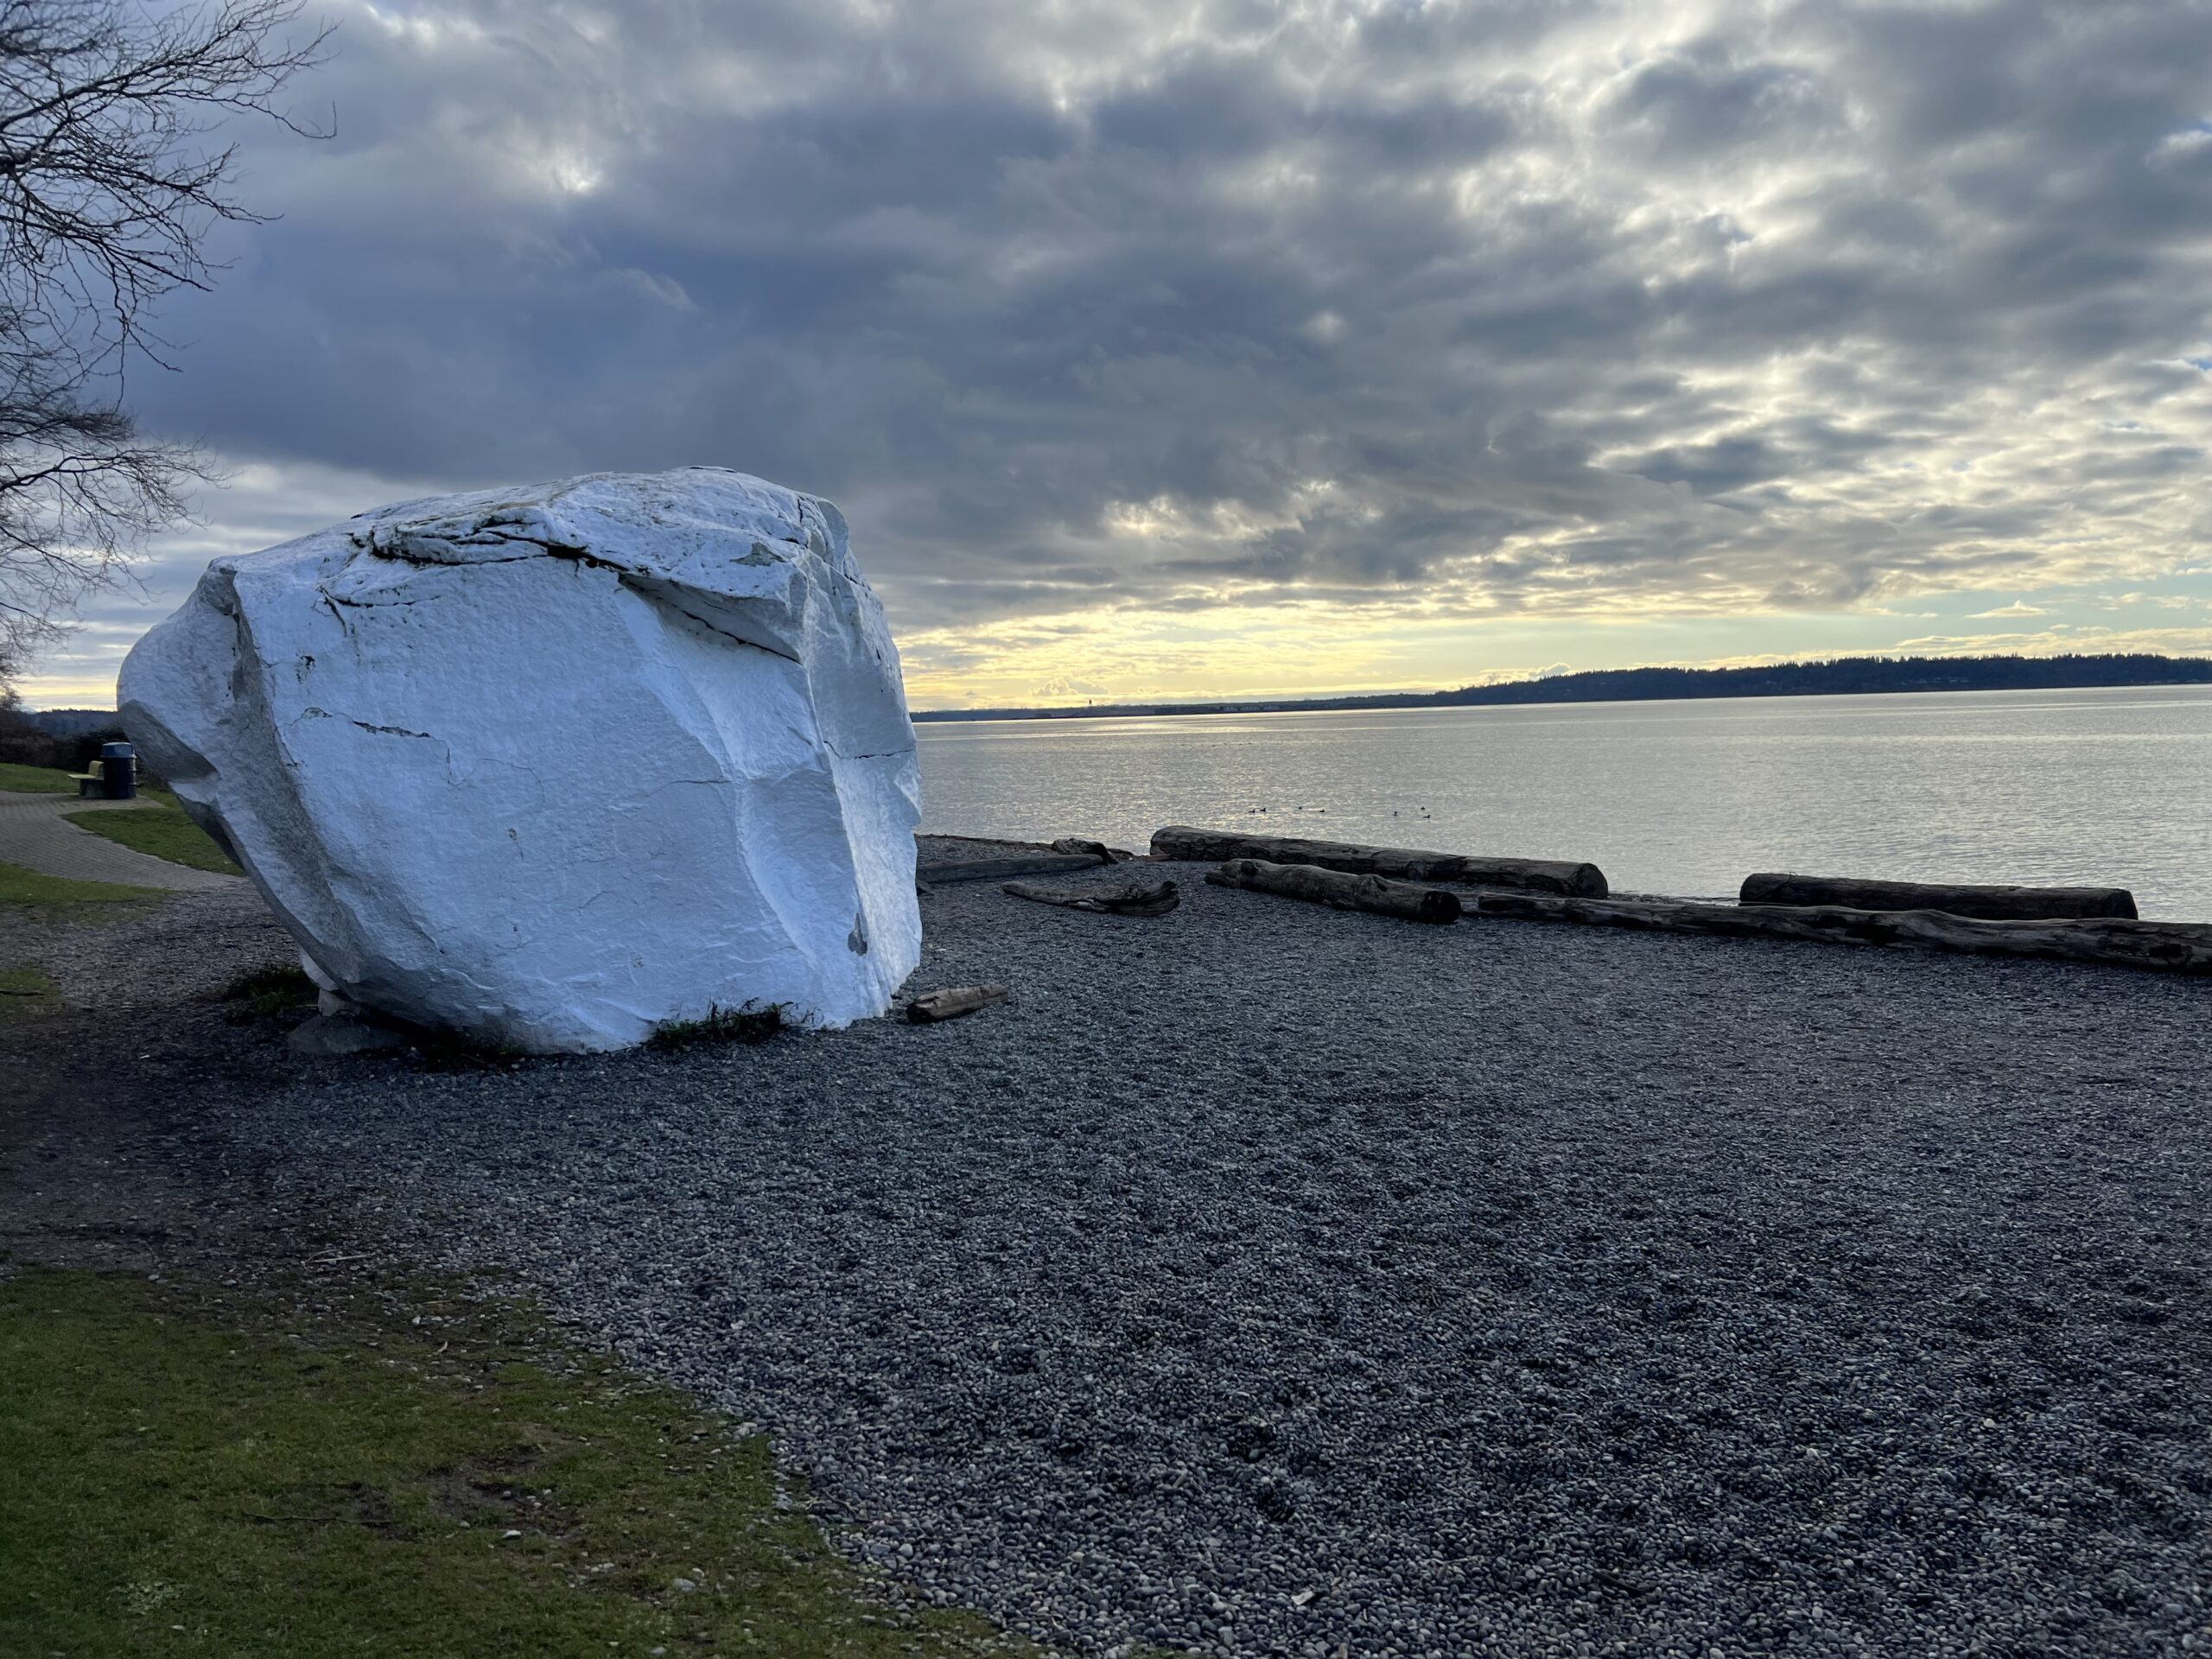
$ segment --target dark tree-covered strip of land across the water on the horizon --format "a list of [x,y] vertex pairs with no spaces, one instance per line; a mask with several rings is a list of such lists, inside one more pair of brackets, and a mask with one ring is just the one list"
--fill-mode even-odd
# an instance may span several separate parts
[[1084,703],[1077,708],[929,708],[918,723],[1144,719],[1170,714],[1321,714],[1376,708],[1522,708],[1533,703],[1668,703],[1712,697],[1867,697],[1962,690],[2101,690],[2212,686],[2212,657],[1836,657],[1759,668],[1595,668],[1436,692],[1267,697],[1214,703]]

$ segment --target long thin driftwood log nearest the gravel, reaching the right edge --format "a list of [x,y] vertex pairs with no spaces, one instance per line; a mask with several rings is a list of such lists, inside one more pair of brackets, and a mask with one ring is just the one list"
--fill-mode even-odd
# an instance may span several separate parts
[[1823,945],[1902,945],[1969,956],[2039,956],[2059,962],[2212,973],[2212,925],[2068,916],[1989,922],[1940,909],[1851,909],[1847,905],[1692,905],[1677,900],[1478,894],[1473,911],[1520,922],[1582,922],[1659,933],[1794,938]]

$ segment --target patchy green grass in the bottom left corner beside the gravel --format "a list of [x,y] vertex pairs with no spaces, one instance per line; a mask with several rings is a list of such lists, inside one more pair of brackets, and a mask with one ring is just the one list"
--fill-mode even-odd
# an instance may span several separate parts
[[522,1310],[0,1283],[0,1652],[1035,1655],[865,1595],[761,1438]]

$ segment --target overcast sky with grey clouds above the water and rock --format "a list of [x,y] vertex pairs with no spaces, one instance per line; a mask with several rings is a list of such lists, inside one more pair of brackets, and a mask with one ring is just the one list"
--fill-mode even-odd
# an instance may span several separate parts
[[142,420],[219,551],[717,462],[918,708],[2212,648],[2212,0],[327,4]]

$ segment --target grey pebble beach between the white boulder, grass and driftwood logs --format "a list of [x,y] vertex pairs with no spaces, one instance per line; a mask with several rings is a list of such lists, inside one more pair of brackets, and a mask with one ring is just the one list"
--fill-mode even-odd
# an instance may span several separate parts
[[927,896],[947,1026],[210,1110],[1073,1648],[2212,1650],[2212,984],[1172,874]]

